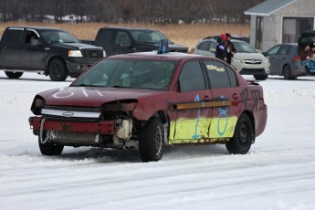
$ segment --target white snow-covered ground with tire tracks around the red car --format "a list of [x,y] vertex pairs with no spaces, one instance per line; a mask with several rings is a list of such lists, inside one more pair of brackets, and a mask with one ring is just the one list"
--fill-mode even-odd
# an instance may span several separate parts
[[0,72],[0,209],[315,209],[314,77],[260,82],[268,124],[246,155],[224,145],[173,147],[158,163],[95,148],[42,156],[31,102],[70,81]]

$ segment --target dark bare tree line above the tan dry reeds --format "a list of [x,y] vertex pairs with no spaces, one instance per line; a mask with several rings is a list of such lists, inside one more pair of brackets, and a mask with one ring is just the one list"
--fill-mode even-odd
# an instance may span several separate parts
[[0,22],[247,23],[244,11],[264,0],[1,0]]

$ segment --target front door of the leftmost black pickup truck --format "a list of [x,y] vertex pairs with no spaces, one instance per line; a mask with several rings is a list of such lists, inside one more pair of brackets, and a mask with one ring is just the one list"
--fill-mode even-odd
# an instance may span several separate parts
[[21,61],[25,69],[38,70],[45,68],[44,46],[36,30],[27,28],[21,47]]

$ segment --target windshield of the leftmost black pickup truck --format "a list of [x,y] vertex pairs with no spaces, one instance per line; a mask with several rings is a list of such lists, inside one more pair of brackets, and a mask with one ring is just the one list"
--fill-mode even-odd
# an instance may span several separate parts
[[79,43],[79,41],[72,37],[68,32],[61,30],[45,30],[41,32],[45,42],[49,44],[54,43]]

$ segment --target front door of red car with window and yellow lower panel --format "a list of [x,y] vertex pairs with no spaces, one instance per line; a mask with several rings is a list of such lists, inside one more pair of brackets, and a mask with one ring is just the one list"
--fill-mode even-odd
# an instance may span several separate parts
[[187,61],[178,79],[178,92],[171,99],[175,121],[171,121],[170,142],[192,143],[205,141],[209,136],[212,108],[205,107],[212,100],[207,89],[205,71],[199,60]]

